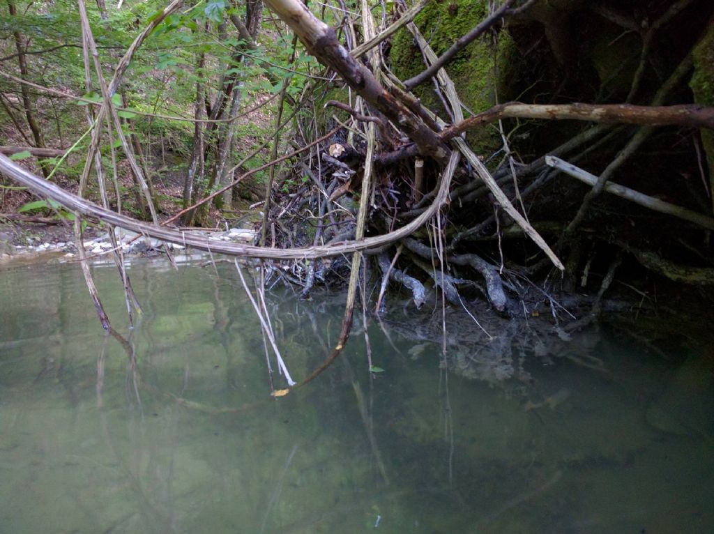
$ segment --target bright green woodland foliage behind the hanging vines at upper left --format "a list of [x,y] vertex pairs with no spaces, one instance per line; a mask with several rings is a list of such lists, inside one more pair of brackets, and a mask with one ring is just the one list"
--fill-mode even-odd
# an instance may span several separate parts
[[[83,101],[71,99],[49,99],[38,101],[41,120],[45,126],[48,143],[69,146],[86,131],[87,106],[101,104],[99,80],[94,68],[91,72],[91,87],[86,87],[83,53],[81,49],[81,24],[76,0],[55,0],[51,4],[34,3],[30,0],[15,2],[17,16],[1,16],[0,29],[5,36],[20,31],[27,41],[29,81],[41,86],[49,86],[70,94],[83,95]],[[351,2],[350,9],[356,9]],[[115,3],[106,4],[106,14],[101,14],[96,3],[86,4],[94,39],[99,51],[99,59],[104,67],[104,79],[108,81],[121,56],[137,35],[156,17],[161,16],[165,1],[149,0],[126,4],[118,9]],[[6,11],[4,11],[6,13]],[[238,31],[228,20],[228,16],[245,17],[245,7],[235,6],[226,0],[204,0],[187,4],[181,10],[166,17],[139,47],[129,64],[121,83],[121,89],[112,96],[124,135],[133,140],[134,136],[144,148],[144,156],[149,161],[149,172],[156,162],[158,146],[174,156],[186,166],[193,151],[194,125],[191,122],[162,119],[159,115],[193,117],[196,111],[196,84],[200,82],[206,92],[206,103],[212,105],[222,84],[235,81],[241,91],[241,107],[252,107],[256,97],[264,99],[266,94],[278,94],[286,88],[288,100],[298,99],[303,93],[310,76],[321,74],[323,68],[316,59],[307,54],[298,44],[293,51],[294,41],[290,32],[276,32],[270,25],[269,32],[258,32],[258,46],[253,49],[241,39]],[[332,14],[326,11],[328,24],[336,24]],[[13,39],[0,41],[0,56],[11,56]],[[198,68],[203,57],[203,67]],[[5,68],[17,74],[14,60],[6,61]],[[307,76],[306,76],[307,75]],[[16,94],[19,86],[0,78],[0,92]],[[123,101],[125,99],[125,101]],[[278,99],[263,109],[261,120],[239,119],[232,124],[237,141],[236,158],[251,151],[269,136],[273,129],[271,114],[276,109]],[[203,104],[203,103],[201,103]],[[289,105],[286,106],[288,116]],[[10,124],[9,117],[0,109],[0,121]],[[206,141],[206,175],[208,180],[213,169],[215,151],[211,143],[225,133],[219,126],[208,127],[204,133]],[[0,138],[0,143],[2,139]],[[86,148],[89,138],[81,141],[76,151]],[[128,172],[121,164],[124,158],[121,142],[116,134],[112,137],[103,133],[100,146],[102,159],[111,166],[111,148],[119,158],[120,173]],[[16,154],[22,158],[28,154]],[[243,165],[256,168],[265,163],[267,152],[263,151]],[[84,159],[73,156],[63,161],[60,171],[65,178],[80,176]],[[174,173],[181,176],[181,173]],[[122,176],[120,176],[121,178]],[[266,173],[258,172],[251,180],[264,181]],[[205,184],[196,184],[201,188]],[[130,191],[124,191],[129,193]],[[96,191],[95,191],[96,193]],[[46,210],[47,206],[35,209]]]

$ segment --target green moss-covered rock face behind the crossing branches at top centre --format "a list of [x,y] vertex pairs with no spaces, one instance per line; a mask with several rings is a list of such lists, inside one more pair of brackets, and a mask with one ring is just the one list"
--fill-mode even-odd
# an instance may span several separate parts
[[[414,22],[434,52],[441,56],[456,39],[482,21],[487,11],[487,3],[482,0],[431,2]],[[409,79],[426,68],[408,29],[402,29],[394,36],[390,54],[391,68],[400,79]],[[516,54],[511,36],[501,31],[497,40],[489,39],[488,34],[476,39],[446,66],[463,104],[473,113],[478,114],[496,104],[496,94],[500,101],[513,96],[507,81]],[[425,106],[446,119],[431,82],[421,84],[413,92]],[[493,127],[469,132],[468,141],[477,153],[491,153],[501,146],[500,136]]]

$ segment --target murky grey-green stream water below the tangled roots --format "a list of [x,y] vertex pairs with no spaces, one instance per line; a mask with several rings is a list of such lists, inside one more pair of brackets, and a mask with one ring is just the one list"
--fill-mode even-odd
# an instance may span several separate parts
[[[231,263],[129,273],[133,331],[116,271],[94,268],[122,344],[79,266],[0,270],[1,533],[714,532],[712,358],[685,338],[511,351],[494,332],[500,356],[443,356],[396,306],[368,326],[382,372],[358,321],[333,366],[271,398]],[[267,298],[299,381],[336,343],[340,296]]]

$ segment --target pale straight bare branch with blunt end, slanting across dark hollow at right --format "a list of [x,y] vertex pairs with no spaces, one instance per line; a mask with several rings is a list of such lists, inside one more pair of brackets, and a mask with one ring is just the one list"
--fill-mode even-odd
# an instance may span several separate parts
[[[576,167],[572,163],[563,161],[555,156],[545,156],[545,163],[553,168],[557,168],[558,171],[562,171],[568,176],[573,176],[581,182],[587,183],[590,186],[594,186],[598,181],[598,177],[594,174],[584,171],[582,168]],[[605,191],[612,193],[613,195],[619,196],[620,198],[625,198],[628,201],[632,201],[635,204],[644,206],[653,211],[658,211],[660,213],[666,213],[672,215],[690,223],[695,223],[709,230],[714,230],[714,218],[703,215],[703,213],[698,213],[681,206],[676,206],[669,202],[661,201],[659,198],[654,198],[653,196],[645,195],[629,187],[620,186],[618,183],[607,182],[605,183]]]

